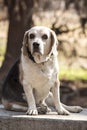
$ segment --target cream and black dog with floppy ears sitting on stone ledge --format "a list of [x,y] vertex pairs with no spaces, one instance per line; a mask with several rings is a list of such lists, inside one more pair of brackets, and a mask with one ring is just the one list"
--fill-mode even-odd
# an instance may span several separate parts
[[5,109],[28,115],[50,112],[50,106],[59,115],[82,110],[60,102],[58,44],[55,32],[47,27],[35,26],[25,32],[21,56],[3,85]]

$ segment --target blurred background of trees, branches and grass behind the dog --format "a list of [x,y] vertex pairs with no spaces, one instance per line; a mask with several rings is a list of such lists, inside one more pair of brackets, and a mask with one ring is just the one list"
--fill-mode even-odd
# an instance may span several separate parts
[[0,0],[1,87],[20,55],[24,32],[34,25],[57,34],[61,100],[86,107],[87,0]]

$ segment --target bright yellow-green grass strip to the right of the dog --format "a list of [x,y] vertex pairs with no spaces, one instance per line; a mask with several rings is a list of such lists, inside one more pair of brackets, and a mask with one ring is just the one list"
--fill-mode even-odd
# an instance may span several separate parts
[[65,80],[87,80],[87,70],[61,67],[59,78]]

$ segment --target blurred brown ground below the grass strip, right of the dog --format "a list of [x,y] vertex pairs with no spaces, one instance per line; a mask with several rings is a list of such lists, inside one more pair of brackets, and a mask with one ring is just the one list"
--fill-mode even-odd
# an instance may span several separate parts
[[67,105],[87,107],[87,81],[62,80],[61,101]]

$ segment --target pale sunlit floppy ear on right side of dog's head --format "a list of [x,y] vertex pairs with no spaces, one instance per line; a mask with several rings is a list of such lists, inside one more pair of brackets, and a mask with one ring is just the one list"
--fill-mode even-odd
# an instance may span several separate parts
[[58,40],[57,36],[54,31],[51,30],[51,51],[50,53],[53,55],[57,55],[57,47],[58,47]]

